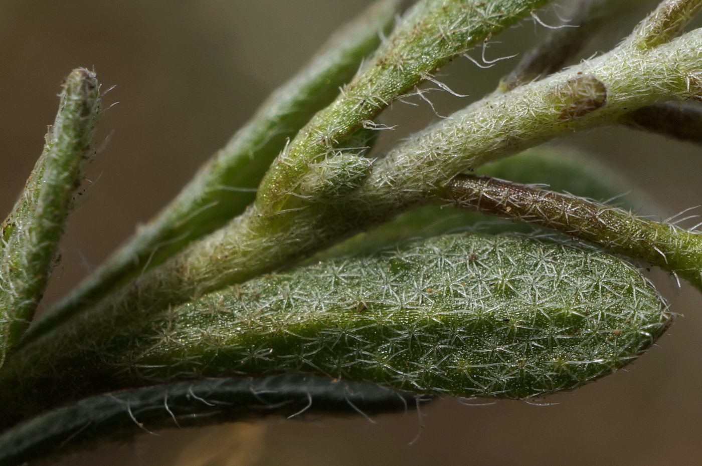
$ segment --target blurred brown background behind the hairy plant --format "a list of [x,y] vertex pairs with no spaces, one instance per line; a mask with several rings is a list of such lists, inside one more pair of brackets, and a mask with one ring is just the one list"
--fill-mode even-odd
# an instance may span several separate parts
[[[94,68],[104,89],[117,85],[105,97],[106,105],[120,102],[100,125],[100,142],[108,136],[110,141],[89,168],[86,195],[69,224],[62,266],[55,270],[47,302],[74,286],[156,213],[274,86],[367,3],[1,1],[0,213],[11,208],[41,151],[57,108],[55,95],[70,69]],[[491,46],[487,58],[517,53],[541,31],[525,22],[497,38],[503,44]],[[611,39],[616,42],[616,33]],[[472,97],[432,93],[439,113],[491,91],[513,64],[507,60],[482,70],[458,60],[443,79]],[[386,123],[400,124],[397,135],[435,119],[424,104],[396,104],[385,116]],[[701,204],[702,149],[618,128],[562,143],[590,148],[671,215]],[[155,466],[176,458],[181,465],[702,464],[702,299],[687,284],[677,289],[663,274],[656,279],[673,311],[684,314],[661,347],[629,371],[547,400],[555,406],[518,401],[463,406],[446,399],[423,410],[421,428],[416,414],[408,413],[380,416],[377,424],[362,418],[270,420],[262,423],[265,430],[173,430],[62,464]],[[418,432],[417,441],[408,445]],[[252,440],[239,444],[251,451],[239,453],[249,460],[237,462],[232,456],[230,462],[217,462],[204,454],[226,442],[235,446],[237,439],[249,438],[245,435]],[[183,453],[196,439],[219,447],[192,446]],[[258,460],[252,463],[254,457]]]

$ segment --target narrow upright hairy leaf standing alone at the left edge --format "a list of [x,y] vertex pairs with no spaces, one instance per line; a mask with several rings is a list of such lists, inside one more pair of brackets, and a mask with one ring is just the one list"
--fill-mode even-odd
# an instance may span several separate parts
[[73,196],[102,114],[95,74],[75,69],[24,192],[0,225],[0,366],[25,332],[58,255]]

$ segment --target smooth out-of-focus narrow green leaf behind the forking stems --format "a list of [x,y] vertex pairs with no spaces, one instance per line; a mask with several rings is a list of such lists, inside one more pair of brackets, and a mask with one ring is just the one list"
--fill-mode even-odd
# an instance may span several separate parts
[[352,78],[366,55],[380,44],[399,4],[400,0],[378,1],[334,34],[309,65],[263,102],[157,218],[140,228],[54,311],[79,312],[89,307],[243,212],[286,141],[336,98],[339,86]]

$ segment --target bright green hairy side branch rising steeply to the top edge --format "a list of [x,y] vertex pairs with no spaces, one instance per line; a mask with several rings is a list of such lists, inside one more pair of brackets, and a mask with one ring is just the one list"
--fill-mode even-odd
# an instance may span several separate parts
[[256,206],[267,213],[297,208],[298,183],[310,164],[357,129],[372,126],[391,102],[453,58],[550,1],[419,1],[366,71],[315,115],[274,162],[261,182]]

